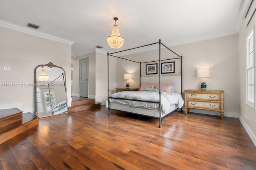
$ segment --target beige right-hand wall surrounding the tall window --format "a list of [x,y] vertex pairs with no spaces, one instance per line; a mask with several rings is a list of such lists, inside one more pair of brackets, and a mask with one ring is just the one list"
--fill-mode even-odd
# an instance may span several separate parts
[[256,110],[246,104],[246,37],[252,31],[256,23],[255,20],[256,17],[254,14],[248,26],[246,27],[243,23],[238,33],[239,119],[254,142],[254,145],[256,145]]

